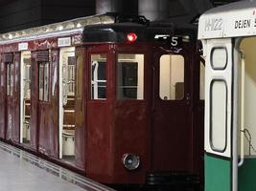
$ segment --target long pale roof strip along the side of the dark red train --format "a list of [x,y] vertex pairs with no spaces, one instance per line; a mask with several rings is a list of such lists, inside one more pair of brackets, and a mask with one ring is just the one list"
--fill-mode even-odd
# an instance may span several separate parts
[[116,22],[116,15],[113,13],[86,16],[41,27],[3,33],[0,34],[0,44],[29,41],[58,35],[70,35],[82,32],[83,27],[87,25],[109,24],[114,22]]

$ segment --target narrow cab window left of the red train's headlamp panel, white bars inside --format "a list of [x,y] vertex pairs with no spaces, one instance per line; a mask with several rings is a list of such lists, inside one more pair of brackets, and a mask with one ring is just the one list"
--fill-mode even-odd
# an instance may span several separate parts
[[106,54],[91,55],[91,98],[106,98]]

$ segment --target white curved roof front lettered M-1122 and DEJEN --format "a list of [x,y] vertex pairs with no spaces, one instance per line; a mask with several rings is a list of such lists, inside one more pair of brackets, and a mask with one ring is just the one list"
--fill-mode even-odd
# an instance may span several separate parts
[[244,0],[206,11],[199,18],[198,39],[256,34],[256,1]]

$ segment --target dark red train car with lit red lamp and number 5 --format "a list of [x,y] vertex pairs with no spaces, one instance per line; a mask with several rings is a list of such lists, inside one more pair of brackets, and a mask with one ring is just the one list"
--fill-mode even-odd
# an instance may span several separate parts
[[3,34],[0,138],[107,184],[198,183],[196,37],[114,14]]

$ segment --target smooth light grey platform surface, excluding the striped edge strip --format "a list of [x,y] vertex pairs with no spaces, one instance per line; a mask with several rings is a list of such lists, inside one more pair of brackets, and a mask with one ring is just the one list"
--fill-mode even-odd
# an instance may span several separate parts
[[[84,191],[108,190],[83,189],[60,179],[35,164],[0,149],[0,191]],[[109,189],[111,190],[111,189]]]

